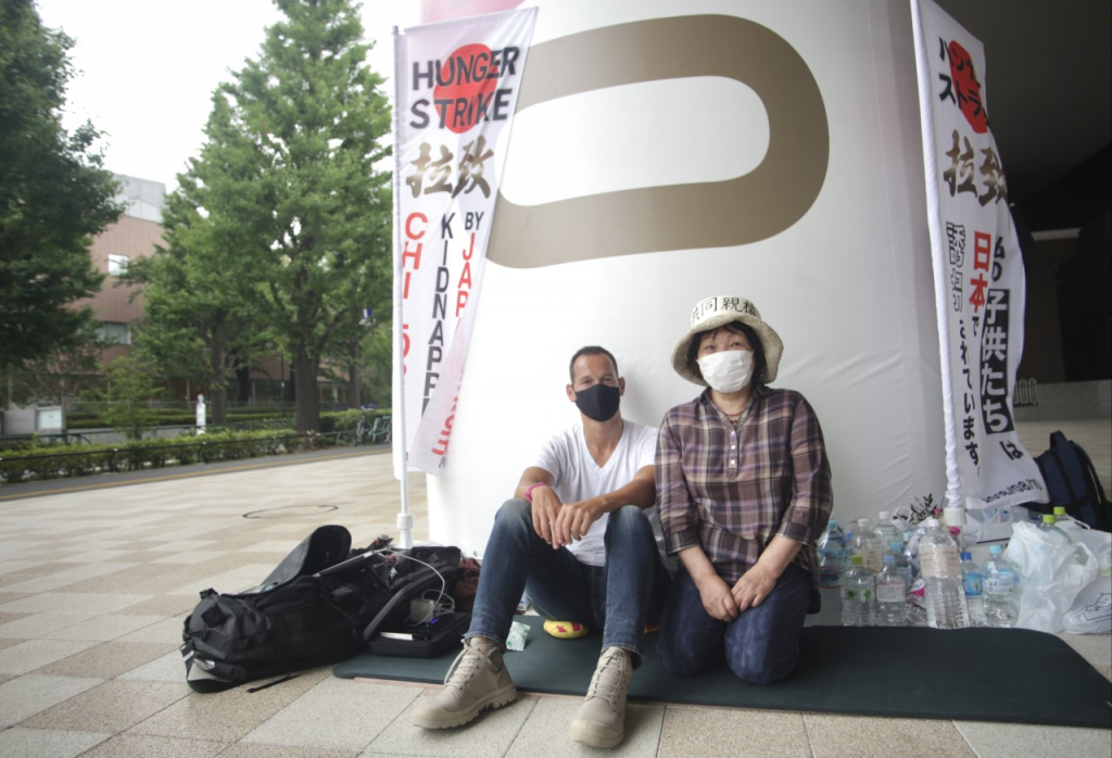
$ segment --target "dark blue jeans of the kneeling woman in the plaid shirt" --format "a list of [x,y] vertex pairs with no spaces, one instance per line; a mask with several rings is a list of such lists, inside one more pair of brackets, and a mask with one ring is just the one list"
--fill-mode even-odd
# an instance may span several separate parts
[[795,668],[810,602],[811,576],[792,563],[759,606],[727,624],[706,612],[695,581],[681,569],[664,604],[656,651],[677,676],[726,665],[742,681],[771,685]]

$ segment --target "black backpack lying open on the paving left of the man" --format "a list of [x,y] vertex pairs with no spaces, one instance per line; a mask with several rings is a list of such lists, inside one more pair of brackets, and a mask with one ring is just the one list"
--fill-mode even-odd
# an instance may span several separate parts
[[[347,529],[320,527],[258,587],[236,595],[202,591],[182,630],[189,686],[218,692],[280,677],[248,690],[254,692],[364,651],[379,627],[408,615],[409,599],[448,585],[459,562],[458,548],[387,551],[388,541],[353,553]],[[429,568],[397,568],[409,562]]]

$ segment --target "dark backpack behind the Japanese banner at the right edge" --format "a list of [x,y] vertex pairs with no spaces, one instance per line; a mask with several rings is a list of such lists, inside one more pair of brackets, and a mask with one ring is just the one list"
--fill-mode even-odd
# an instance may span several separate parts
[[1104,488],[1084,448],[1055,431],[1050,436],[1050,449],[1036,457],[1035,462],[1046,482],[1050,505],[1031,503],[1027,508],[1050,513],[1054,506],[1062,506],[1066,513],[1093,529],[1112,531],[1112,505],[1104,497]]

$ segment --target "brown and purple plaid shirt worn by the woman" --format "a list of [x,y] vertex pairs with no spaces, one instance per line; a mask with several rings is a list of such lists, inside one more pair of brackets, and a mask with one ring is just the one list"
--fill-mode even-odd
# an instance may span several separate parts
[[833,505],[818,418],[793,390],[757,388],[737,423],[709,390],[676,406],[656,445],[656,497],[668,555],[698,545],[733,585],[776,535],[802,542],[795,562],[812,576],[815,540]]

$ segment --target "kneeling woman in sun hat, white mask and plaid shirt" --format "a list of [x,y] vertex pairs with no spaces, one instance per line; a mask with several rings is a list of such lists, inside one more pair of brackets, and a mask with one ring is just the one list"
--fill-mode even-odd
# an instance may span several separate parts
[[656,649],[692,676],[723,664],[771,684],[795,667],[804,617],[818,611],[814,542],[830,518],[831,471],[814,410],[772,389],[784,346],[752,302],[713,297],[672,351],[707,389],[661,425],[656,493],[679,558]]

